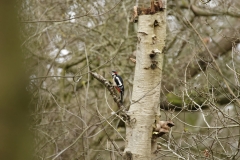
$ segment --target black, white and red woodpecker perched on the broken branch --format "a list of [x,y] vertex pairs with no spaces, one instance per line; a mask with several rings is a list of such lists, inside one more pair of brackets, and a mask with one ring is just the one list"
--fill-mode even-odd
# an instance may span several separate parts
[[115,88],[120,93],[121,103],[123,103],[123,95],[124,95],[124,85],[122,78],[117,74],[116,71],[112,71],[113,83],[116,84]]

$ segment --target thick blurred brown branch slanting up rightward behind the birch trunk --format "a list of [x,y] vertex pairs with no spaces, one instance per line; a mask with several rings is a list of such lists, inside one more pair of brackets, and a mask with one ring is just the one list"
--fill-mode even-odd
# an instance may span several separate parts
[[[232,49],[232,43],[239,42],[239,39],[238,39],[239,30],[240,30],[240,25],[236,26],[234,29],[227,28],[223,30],[221,34],[222,37],[220,39],[216,38],[216,40],[213,40],[212,43],[207,45],[208,49],[205,49],[203,52],[198,53],[197,54],[197,56],[199,57],[198,62],[192,62],[193,64],[188,66],[187,78],[192,78],[197,74],[199,74],[201,70],[203,71],[206,70],[209,63],[212,62],[211,57],[209,56],[209,51],[212,53],[215,59],[218,59],[219,57],[227,54],[228,51]],[[228,37],[228,36],[232,36],[232,37]],[[193,55],[193,53],[191,54]],[[164,88],[166,88],[168,92],[173,91],[174,87],[177,84],[179,84],[180,78],[182,78],[184,75],[184,68],[186,68],[189,62],[189,56],[185,56],[184,58],[179,60],[180,60],[179,63],[175,63],[173,67],[171,67],[171,68],[181,68],[181,70],[178,70],[178,72],[176,73],[177,74],[176,77],[179,77],[179,78],[175,79],[167,76],[166,78],[163,79],[162,86],[164,86]],[[200,65],[201,70],[199,69],[199,67],[196,67],[198,65],[197,63]],[[169,72],[173,72],[171,68]],[[171,79],[168,79],[168,77]]]

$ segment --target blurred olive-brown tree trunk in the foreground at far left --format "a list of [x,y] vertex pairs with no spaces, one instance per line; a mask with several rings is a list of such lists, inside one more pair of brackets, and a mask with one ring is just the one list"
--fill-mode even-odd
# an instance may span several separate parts
[[15,0],[0,1],[0,159],[29,160],[29,94],[17,15]]

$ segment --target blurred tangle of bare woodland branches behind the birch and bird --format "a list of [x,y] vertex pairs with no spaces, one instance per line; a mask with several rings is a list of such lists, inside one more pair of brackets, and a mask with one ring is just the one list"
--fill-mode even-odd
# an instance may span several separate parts
[[[30,75],[26,88],[34,159],[121,159],[124,123],[114,115],[118,108],[106,88],[89,71],[109,80],[109,72],[118,71],[124,105],[130,106],[135,64],[129,58],[135,57],[137,44],[132,8],[149,2],[16,2],[20,50]],[[159,105],[161,119],[175,126],[159,139],[157,159],[240,157],[239,18],[238,0],[168,0]]]

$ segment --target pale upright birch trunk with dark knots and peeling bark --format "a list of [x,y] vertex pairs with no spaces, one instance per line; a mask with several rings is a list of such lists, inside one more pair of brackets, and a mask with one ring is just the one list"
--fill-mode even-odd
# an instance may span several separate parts
[[[160,87],[163,48],[166,39],[166,9],[138,18],[138,46],[133,83],[132,104],[126,125],[125,156],[133,160],[152,158],[156,144],[153,126],[160,117]],[[156,142],[155,142],[156,143]]]

